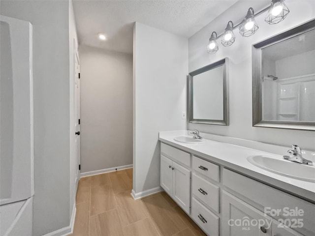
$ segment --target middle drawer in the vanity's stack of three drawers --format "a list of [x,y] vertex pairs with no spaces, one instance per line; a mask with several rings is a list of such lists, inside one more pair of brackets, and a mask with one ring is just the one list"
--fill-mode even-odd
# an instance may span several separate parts
[[192,175],[192,194],[203,204],[219,213],[220,187],[206,181],[205,179]]

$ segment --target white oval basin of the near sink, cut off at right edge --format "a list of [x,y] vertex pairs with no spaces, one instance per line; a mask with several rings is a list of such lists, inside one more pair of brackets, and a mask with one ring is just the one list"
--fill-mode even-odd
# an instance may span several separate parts
[[308,166],[268,156],[250,156],[247,158],[253,165],[278,175],[315,182],[315,166]]

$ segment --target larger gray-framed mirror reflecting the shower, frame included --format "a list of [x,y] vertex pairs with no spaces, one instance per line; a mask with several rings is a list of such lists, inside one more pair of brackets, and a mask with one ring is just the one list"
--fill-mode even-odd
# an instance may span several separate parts
[[315,130],[315,20],[252,47],[253,126]]

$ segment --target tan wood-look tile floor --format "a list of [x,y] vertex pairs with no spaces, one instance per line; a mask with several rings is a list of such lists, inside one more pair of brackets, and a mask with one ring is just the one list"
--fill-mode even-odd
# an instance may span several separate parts
[[205,236],[165,193],[131,196],[132,169],[83,177],[72,236]]

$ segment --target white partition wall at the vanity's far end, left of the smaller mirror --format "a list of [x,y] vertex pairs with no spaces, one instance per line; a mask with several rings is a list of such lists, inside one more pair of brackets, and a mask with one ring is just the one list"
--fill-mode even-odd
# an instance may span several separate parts
[[133,192],[159,187],[158,131],[186,129],[188,40],[135,23]]

